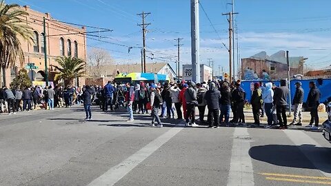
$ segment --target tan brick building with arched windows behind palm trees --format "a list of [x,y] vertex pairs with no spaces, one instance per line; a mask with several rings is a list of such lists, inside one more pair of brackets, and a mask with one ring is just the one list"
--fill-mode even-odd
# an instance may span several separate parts
[[[86,28],[76,28],[72,25],[61,23],[53,19],[49,13],[31,10],[29,6],[21,7],[28,12],[28,16],[21,17],[33,29],[34,42],[28,43],[21,39],[24,54],[23,64],[17,63],[6,70],[5,78],[8,86],[21,68],[26,68],[28,63],[34,63],[37,69],[29,72],[33,81],[43,81],[45,76],[45,58],[43,45],[43,17],[46,18],[46,50],[48,56],[48,80],[54,81],[57,72],[52,65],[58,65],[55,59],[58,56],[76,56],[86,61]],[[3,78],[3,77],[2,77]],[[76,84],[85,84],[84,78],[74,81]]]

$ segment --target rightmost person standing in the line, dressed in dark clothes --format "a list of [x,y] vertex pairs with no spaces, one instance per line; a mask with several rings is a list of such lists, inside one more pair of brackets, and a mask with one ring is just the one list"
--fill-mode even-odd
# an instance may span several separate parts
[[[310,123],[306,127],[310,127],[311,130],[319,129],[319,112],[317,108],[319,107],[319,97],[321,93],[317,88],[314,81],[309,82],[310,91],[308,93],[307,105],[310,109]],[[313,125],[315,123],[315,125]]]

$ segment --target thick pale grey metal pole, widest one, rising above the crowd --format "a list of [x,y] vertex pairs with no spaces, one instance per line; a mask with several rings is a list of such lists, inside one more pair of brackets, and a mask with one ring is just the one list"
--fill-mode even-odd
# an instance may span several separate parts
[[199,50],[199,0],[191,0],[192,81],[196,83],[200,82]]

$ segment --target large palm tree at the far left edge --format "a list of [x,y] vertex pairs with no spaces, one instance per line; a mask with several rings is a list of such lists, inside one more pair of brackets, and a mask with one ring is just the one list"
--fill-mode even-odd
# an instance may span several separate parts
[[6,84],[6,69],[14,66],[17,59],[23,63],[23,50],[19,39],[32,41],[32,28],[20,17],[28,16],[17,4],[0,3],[0,85]]

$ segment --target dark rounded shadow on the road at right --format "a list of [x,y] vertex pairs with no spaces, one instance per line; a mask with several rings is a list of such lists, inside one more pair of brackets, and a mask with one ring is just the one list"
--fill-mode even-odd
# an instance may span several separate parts
[[301,151],[312,154],[315,163],[323,165],[319,167],[323,172],[331,173],[331,148],[316,147],[315,145],[261,145],[251,147],[250,157],[265,163],[283,167],[295,167],[303,169],[317,169]]

